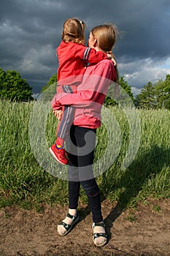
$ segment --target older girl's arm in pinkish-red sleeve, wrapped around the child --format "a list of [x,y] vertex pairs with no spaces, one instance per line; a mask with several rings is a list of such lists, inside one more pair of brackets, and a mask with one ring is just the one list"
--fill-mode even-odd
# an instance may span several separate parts
[[76,94],[56,94],[52,100],[52,107],[60,105],[75,105],[77,107],[88,107],[90,102],[98,102],[99,94],[107,94],[109,85],[114,80],[115,68],[110,61],[96,65],[96,75],[85,75],[82,84],[78,86]]

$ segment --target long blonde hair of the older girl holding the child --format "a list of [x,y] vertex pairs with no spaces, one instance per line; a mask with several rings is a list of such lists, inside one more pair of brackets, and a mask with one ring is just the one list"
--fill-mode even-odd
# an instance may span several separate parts
[[[91,30],[91,34],[93,37],[96,37],[96,45],[98,48],[104,53],[109,53],[115,59],[114,54],[112,53],[112,48],[114,47],[115,43],[117,42],[117,26],[115,24],[103,24],[95,26]],[[115,71],[117,74],[117,81],[119,78],[117,66],[115,66]]]

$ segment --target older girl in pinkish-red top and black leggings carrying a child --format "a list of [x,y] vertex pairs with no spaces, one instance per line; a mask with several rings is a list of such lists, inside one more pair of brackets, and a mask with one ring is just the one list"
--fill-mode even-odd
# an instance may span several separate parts
[[[96,26],[90,31],[88,46],[97,51],[111,53],[117,39],[117,28],[113,24]],[[111,60],[90,64],[78,86],[77,94],[55,95],[52,106],[74,105],[74,123],[66,141],[69,151],[69,212],[58,225],[58,233],[65,236],[78,221],[77,214],[80,185],[85,190],[93,216],[93,243],[104,246],[107,234],[101,214],[101,200],[96,179],[93,177],[93,155],[96,129],[101,125],[101,107],[109,84],[117,82],[117,69]],[[60,118],[61,112],[55,112]]]

